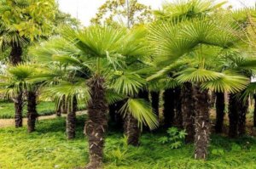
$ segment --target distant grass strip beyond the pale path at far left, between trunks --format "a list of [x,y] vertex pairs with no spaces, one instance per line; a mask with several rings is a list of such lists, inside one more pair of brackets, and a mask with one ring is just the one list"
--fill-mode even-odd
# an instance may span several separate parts
[[[54,102],[40,102],[37,107],[39,115],[55,114]],[[26,105],[23,107],[23,117],[26,117]],[[15,118],[15,105],[9,102],[0,102],[0,119]]]

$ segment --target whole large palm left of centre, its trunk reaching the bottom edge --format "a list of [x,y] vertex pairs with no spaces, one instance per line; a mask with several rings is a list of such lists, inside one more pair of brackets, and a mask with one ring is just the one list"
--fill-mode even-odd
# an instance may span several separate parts
[[87,168],[102,166],[108,127],[108,98],[113,100],[113,95],[109,96],[109,92],[130,96],[126,97],[122,108],[125,114],[133,115],[140,124],[148,124],[151,128],[157,125],[150,106],[141,99],[133,99],[143,81],[136,74],[124,71],[124,59],[144,53],[143,44],[136,39],[140,34],[140,31],[98,25],[82,31],[66,28],[61,38],[45,42],[31,52],[38,59],[69,65],[83,74],[80,79],[84,80],[90,91],[90,99],[86,103],[88,119],[84,127],[90,150]]

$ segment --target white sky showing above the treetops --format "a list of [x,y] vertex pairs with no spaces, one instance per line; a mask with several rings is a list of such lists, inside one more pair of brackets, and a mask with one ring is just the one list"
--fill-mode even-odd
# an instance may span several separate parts
[[[90,24],[90,19],[95,16],[97,8],[99,8],[106,0],[57,0],[63,12],[78,17],[84,25]],[[154,9],[160,8],[164,2],[172,2],[172,0],[138,0],[139,3],[150,5]],[[223,1],[221,1],[223,2]],[[243,6],[254,6],[256,0],[229,0],[234,8]]]

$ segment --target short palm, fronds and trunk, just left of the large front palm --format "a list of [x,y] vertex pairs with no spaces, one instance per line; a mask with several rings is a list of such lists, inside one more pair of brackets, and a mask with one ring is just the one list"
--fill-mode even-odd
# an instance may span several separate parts
[[[76,111],[79,102],[87,101],[90,93],[84,79],[70,66],[54,63],[39,65],[38,73],[31,76],[30,82],[40,84],[42,99],[55,100],[56,110],[65,106],[67,110],[67,139],[75,138]],[[81,94],[83,93],[83,94]]]

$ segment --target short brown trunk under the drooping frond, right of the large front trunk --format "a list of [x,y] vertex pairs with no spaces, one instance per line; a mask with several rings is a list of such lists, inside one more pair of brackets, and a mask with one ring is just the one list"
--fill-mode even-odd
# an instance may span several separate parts
[[127,144],[137,146],[140,138],[140,128],[138,127],[137,119],[131,113],[125,116],[125,135],[127,136]]

